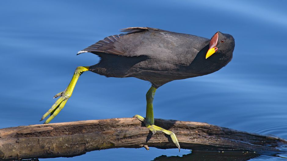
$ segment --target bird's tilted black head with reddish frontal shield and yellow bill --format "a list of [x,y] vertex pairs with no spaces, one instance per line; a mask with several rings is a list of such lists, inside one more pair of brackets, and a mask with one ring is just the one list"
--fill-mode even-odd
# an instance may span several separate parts
[[[234,50],[234,38],[226,33],[217,32],[213,35],[209,42],[209,49],[206,53],[205,59],[209,58],[216,52],[231,53]],[[232,57],[232,55],[231,55]]]

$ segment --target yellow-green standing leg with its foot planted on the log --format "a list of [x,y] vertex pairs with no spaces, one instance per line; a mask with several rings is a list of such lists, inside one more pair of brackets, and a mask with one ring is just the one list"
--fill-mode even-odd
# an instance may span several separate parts
[[153,110],[153,100],[154,100],[154,93],[156,91],[156,88],[154,86],[151,86],[151,88],[147,91],[147,114],[146,118],[135,115],[134,117],[138,118],[140,121],[142,121],[145,126],[153,133],[153,135],[156,133],[156,131],[162,131],[163,133],[170,135],[170,138],[172,139],[173,143],[177,146],[177,148],[180,151],[180,145],[176,138],[176,135],[172,131],[165,130],[161,127],[154,125],[154,110]]

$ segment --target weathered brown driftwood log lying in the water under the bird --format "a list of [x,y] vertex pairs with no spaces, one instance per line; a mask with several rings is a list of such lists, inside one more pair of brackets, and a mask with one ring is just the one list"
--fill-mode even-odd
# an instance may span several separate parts
[[[207,123],[155,119],[174,131],[182,149],[278,152],[287,141]],[[0,159],[71,157],[110,148],[176,148],[168,135],[151,133],[136,118],[75,121],[0,129]],[[149,139],[149,140],[148,140]],[[148,142],[147,142],[148,140]],[[147,146],[145,146],[147,148]]]

